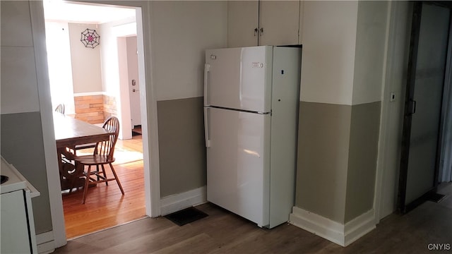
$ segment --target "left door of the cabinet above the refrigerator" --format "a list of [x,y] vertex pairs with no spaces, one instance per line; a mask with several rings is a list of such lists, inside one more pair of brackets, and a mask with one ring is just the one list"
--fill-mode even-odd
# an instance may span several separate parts
[[258,1],[227,2],[227,47],[257,46]]

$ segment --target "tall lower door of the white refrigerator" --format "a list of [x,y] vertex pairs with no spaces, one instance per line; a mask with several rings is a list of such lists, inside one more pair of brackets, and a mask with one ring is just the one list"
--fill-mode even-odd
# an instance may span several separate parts
[[208,108],[207,200],[267,226],[270,115]]

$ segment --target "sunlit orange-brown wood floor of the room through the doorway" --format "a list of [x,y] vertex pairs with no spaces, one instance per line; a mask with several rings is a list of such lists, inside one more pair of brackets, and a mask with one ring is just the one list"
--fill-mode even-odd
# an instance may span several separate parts
[[[109,182],[108,186],[102,183],[90,187],[85,204],[81,204],[83,190],[63,195],[66,238],[83,236],[145,217],[143,159],[124,163],[136,159],[137,152],[142,151],[141,135],[117,141],[114,169],[124,188],[124,196],[115,181]],[[119,158],[119,155],[126,158]],[[107,176],[112,176],[109,167],[105,169]]]

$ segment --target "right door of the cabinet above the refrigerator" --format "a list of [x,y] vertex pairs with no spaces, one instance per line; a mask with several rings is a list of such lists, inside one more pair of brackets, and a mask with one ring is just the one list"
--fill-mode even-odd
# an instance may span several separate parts
[[300,1],[259,2],[259,45],[299,44]]

